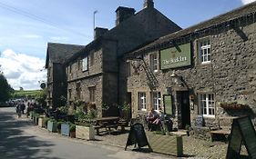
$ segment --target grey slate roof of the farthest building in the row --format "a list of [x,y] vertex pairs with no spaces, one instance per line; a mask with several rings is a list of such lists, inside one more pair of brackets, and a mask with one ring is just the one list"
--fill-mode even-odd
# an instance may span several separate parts
[[51,60],[52,63],[63,64],[67,58],[71,57],[84,47],[84,45],[48,43],[46,53],[46,68],[49,65],[49,60]]

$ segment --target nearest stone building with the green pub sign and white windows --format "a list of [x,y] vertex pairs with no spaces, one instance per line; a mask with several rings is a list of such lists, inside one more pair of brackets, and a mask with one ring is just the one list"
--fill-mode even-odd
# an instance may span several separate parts
[[[256,113],[256,3],[160,37],[119,59],[133,117],[164,107],[174,127]],[[255,122],[256,124],[256,122]]]

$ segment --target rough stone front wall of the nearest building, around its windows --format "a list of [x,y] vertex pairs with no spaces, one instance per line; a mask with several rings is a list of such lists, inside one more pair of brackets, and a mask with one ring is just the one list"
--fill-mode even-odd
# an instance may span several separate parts
[[[198,54],[197,43],[202,38],[210,38],[211,43],[211,62],[206,65],[200,64]],[[159,54],[159,51],[155,53]],[[144,56],[146,63],[148,63],[149,54]],[[184,83],[188,85],[189,94],[195,95],[195,100],[193,101],[195,108],[190,110],[191,122],[193,123],[195,115],[199,112],[197,95],[200,93],[215,94],[215,110],[218,116],[251,114],[251,117],[255,118],[256,24],[239,28],[225,28],[216,35],[201,36],[192,41],[191,54],[192,65],[175,69],[175,73],[181,76]],[[131,70],[133,73],[134,70]],[[161,95],[168,94],[168,87],[172,88],[170,94],[175,95],[173,79],[171,77],[172,73],[172,69],[159,70],[159,72],[154,73],[159,81],[157,91],[160,91]],[[125,82],[125,77],[121,77],[121,79]],[[127,87],[128,92],[132,93],[132,111],[133,115],[136,115],[139,114],[138,92],[147,92],[147,100],[149,99],[150,89],[147,85],[147,76],[143,68],[140,67],[139,75],[131,75],[127,80],[128,85],[123,85],[122,88]],[[120,99],[124,99],[124,97],[120,95]],[[148,110],[150,105],[152,105],[150,102],[150,100],[147,101]],[[249,104],[251,110],[227,112],[220,107],[220,103],[223,102]]]

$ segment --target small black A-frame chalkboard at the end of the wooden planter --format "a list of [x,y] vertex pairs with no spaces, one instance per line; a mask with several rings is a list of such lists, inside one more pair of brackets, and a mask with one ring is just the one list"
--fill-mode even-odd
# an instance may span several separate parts
[[151,150],[142,124],[136,123],[130,126],[128,141],[127,141],[125,150],[127,150],[128,145],[133,145],[133,144],[135,145],[138,144],[138,148],[148,145],[149,149]]

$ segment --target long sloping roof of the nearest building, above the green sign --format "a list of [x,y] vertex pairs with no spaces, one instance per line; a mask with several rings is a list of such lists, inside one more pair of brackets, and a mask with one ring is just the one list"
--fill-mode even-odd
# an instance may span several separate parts
[[126,56],[138,55],[140,53],[150,52],[154,48],[161,47],[161,45],[164,43],[169,43],[169,41],[171,41],[172,39],[176,39],[181,36],[186,36],[186,35],[190,35],[195,32],[199,32],[200,30],[210,28],[211,26],[214,26],[214,25],[220,25],[222,23],[229,22],[234,19],[240,18],[241,16],[244,16],[244,15],[254,14],[254,16],[255,16],[255,12],[256,12],[256,2],[253,2],[249,5],[243,5],[243,6],[237,8],[237,9],[234,9],[228,13],[218,15],[218,16],[211,18],[210,20],[201,22],[198,25],[192,25],[192,26],[190,26],[186,29],[180,30],[178,32],[162,36],[158,40],[154,41],[153,43],[151,43],[149,45],[146,44],[146,45],[144,45],[144,47],[141,47],[136,51],[126,54]]

